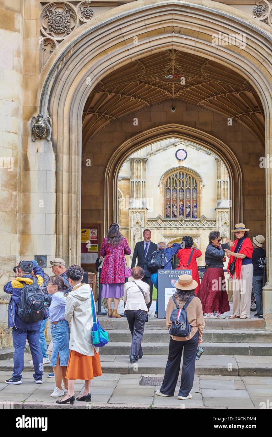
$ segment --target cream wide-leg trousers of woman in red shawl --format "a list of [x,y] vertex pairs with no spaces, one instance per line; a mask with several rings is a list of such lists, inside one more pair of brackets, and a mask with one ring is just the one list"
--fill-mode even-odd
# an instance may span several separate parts
[[236,273],[234,273],[232,282],[232,313],[234,316],[250,317],[252,278],[253,264],[246,264],[241,267],[240,279],[236,279]]

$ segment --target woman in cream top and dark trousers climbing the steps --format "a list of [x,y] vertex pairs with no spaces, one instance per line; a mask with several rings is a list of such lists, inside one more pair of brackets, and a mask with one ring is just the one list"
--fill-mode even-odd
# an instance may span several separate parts
[[125,314],[131,331],[131,363],[136,363],[143,356],[141,340],[143,338],[145,322],[148,320],[150,302],[149,285],[142,281],[145,271],[141,267],[133,267],[131,276],[134,281],[128,281],[124,289]]

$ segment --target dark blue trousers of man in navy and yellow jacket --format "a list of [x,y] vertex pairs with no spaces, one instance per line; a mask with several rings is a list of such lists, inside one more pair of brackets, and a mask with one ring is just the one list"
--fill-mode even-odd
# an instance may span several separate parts
[[43,359],[40,347],[40,325],[30,329],[12,328],[12,338],[14,346],[14,368],[12,376],[14,378],[22,378],[22,371],[24,370],[24,348],[26,340],[28,340],[35,371],[33,378],[41,378],[43,375]]

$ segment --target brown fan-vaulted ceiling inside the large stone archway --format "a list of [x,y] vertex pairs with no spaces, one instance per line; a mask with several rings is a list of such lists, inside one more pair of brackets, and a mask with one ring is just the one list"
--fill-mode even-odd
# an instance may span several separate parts
[[264,143],[262,103],[251,84],[218,62],[177,50],[130,62],[104,77],[85,104],[83,143],[127,114],[171,100],[232,118]]

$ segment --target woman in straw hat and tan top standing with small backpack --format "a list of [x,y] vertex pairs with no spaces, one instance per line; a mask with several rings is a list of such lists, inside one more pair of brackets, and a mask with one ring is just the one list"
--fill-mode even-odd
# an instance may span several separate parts
[[[187,337],[171,336],[162,387],[156,392],[156,395],[158,396],[174,396],[176,384],[179,378],[183,350],[182,373],[178,399],[184,400],[191,399],[192,397],[190,390],[193,387],[193,378],[195,375],[196,351],[198,345],[202,343],[202,334],[205,326],[201,301],[195,295],[195,288],[197,285],[197,282],[194,281],[189,274],[180,275],[179,281],[175,284],[175,299],[179,308],[182,309],[186,301],[192,298],[186,308],[191,332]],[[176,305],[173,299],[170,298],[166,309],[166,326],[168,329],[172,325],[170,317],[173,309],[176,309]]]

